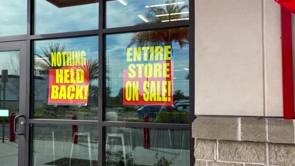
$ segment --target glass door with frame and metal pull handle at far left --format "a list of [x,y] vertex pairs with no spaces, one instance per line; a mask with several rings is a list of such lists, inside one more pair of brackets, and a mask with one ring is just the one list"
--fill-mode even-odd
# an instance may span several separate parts
[[0,43],[0,166],[25,163],[25,56],[25,41]]

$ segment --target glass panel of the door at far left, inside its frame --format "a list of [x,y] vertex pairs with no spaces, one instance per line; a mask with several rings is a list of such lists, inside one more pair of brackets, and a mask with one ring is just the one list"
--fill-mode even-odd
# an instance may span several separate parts
[[18,136],[9,130],[19,114],[19,57],[19,51],[0,52],[0,166],[17,166]]

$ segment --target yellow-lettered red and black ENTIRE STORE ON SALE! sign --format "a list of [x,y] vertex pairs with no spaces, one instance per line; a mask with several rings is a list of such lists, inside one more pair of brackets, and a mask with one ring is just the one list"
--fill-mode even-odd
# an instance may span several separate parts
[[173,105],[171,44],[128,47],[124,64],[124,105]]

